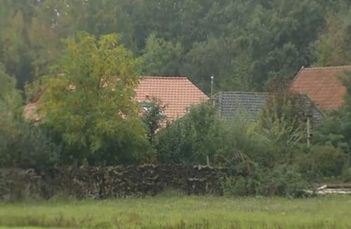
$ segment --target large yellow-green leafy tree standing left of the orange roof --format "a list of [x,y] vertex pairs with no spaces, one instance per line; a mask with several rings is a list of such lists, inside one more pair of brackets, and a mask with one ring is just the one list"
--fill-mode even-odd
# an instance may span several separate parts
[[51,74],[39,107],[42,123],[62,134],[78,162],[110,165],[136,161],[145,142],[133,101],[140,60],[117,34],[80,32]]

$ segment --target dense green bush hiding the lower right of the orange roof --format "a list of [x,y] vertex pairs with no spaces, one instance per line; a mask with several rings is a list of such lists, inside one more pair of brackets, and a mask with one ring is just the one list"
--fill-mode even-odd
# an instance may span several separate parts
[[204,163],[206,156],[213,158],[220,141],[220,120],[211,104],[190,109],[187,116],[171,123],[157,134],[160,162]]

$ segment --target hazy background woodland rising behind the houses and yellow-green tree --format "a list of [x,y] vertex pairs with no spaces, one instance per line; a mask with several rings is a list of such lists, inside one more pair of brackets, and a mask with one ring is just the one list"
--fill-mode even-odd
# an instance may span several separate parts
[[206,92],[213,74],[216,90],[263,90],[301,66],[350,63],[345,0],[4,0],[0,8],[0,61],[20,88],[48,74],[60,40],[82,30],[121,34],[145,57],[145,74],[185,74]]

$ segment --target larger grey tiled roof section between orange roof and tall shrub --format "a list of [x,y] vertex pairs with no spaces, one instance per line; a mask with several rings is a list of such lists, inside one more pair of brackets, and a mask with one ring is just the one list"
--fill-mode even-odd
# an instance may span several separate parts
[[219,92],[216,95],[216,107],[220,116],[228,118],[244,113],[250,118],[257,118],[269,97],[264,92]]

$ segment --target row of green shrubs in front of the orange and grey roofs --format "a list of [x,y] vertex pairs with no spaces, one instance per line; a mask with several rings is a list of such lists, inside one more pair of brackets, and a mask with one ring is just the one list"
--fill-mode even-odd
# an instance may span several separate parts
[[222,120],[208,104],[195,107],[157,134],[159,160],[204,162],[211,155],[216,165],[243,172],[251,172],[256,163],[270,168],[290,163],[303,136],[296,106],[288,95],[273,96],[256,120],[245,111]]

